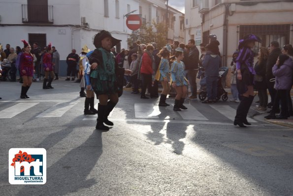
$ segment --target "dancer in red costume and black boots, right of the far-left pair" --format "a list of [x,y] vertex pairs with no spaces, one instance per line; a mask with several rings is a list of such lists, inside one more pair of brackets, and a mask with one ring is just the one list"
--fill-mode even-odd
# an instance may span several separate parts
[[[52,64],[52,47],[51,47],[51,43],[49,43],[46,52],[43,55],[43,66],[44,66],[44,71],[45,71],[45,78],[44,78],[44,82],[43,82],[43,89],[54,89],[51,86],[51,83],[55,77],[55,73],[54,73],[54,68],[53,68],[53,64]],[[50,74],[50,79],[48,81],[48,76]],[[48,81],[48,84],[47,84]]]

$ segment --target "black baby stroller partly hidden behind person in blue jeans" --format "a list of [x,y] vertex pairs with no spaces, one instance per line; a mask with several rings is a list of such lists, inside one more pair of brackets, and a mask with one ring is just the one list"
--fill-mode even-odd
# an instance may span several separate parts
[[[222,97],[223,101],[228,100],[228,93],[225,91],[225,89],[222,86],[222,77],[226,77],[228,73],[228,67],[220,67],[219,68],[219,79],[218,79],[218,85],[217,85],[217,100],[220,100]],[[201,78],[200,80],[200,92],[198,94],[198,98],[200,100],[204,100],[207,97],[207,92],[206,92],[206,77],[204,73],[204,68],[200,67],[198,71],[197,78]]]

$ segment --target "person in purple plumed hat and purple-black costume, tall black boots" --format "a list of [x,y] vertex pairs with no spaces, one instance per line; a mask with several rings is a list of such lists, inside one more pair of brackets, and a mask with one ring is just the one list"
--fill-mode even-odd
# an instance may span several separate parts
[[[247,122],[247,113],[254,99],[254,52],[252,48],[255,42],[261,42],[260,38],[254,34],[248,34],[239,41],[239,54],[236,58],[237,79],[236,86],[240,103],[237,107],[234,125],[246,127],[251,125]],[[245,124],[245,125],[244,125]]]

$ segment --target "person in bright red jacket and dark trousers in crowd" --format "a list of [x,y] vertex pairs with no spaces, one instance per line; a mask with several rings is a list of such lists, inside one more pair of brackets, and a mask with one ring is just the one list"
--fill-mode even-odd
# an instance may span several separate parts
[[141,94],[140,98],[148,98],[145,96],[146,88],[151,92],[152,75],[153,75],[153,63],[155,59],[153,57],[154,46],[149,44],[144,50],[141,59],[140,73],[142,76]]

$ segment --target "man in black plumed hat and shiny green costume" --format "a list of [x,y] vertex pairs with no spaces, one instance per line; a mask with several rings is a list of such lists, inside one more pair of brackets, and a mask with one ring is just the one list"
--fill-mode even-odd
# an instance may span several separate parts
[[[111,33],[102,30],[96,34],[94,45],[97,49],[89,57],[91,64],[91,84],[98,104],[97,130],[109,130],[113,123],[108,120],[110,112],[114,109],[123,92],[124,74],[131,74],[131,70],[118,66],[111,48],[121,40],[112,37]],[[108,101],[108,99],[110,99]]]

